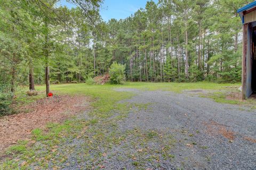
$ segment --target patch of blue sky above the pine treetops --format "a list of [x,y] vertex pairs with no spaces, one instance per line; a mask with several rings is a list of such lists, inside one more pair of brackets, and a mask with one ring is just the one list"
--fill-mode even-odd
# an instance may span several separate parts
[[[158,0],[153,0],[158,2]],[[145,8],[147,0],[105,0],[100,8],[100,15],[104,21],[108,21],[111,18],[125,19],[139,8]],[[69,4],[66,0],[61,0],[62,5],[73,7],[74,5]]]

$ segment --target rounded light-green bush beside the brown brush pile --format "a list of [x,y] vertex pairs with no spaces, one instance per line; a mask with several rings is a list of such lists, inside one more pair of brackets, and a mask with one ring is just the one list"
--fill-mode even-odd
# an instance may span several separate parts
[[123,84],[125,81],[125,65],[117,64],[114,62],[111,64],[109,68],[110,79],[109,82],[111,84]]

